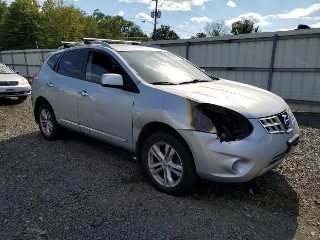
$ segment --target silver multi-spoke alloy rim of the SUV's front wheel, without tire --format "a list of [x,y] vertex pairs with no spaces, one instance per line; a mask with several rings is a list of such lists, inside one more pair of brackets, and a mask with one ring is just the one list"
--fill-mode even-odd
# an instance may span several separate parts
[[154,179],[165,187],[177,186],[183,175],[182,161],[169,144],[154,144],[148,153],[148,166]]

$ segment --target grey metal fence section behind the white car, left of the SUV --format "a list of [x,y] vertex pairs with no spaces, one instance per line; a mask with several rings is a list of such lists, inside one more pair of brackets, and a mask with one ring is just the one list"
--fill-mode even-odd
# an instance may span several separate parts
[[19,71],[22,76],[32,77],[39,72],[46,55],[54,50],[18,50],[0,52],[0,62]]

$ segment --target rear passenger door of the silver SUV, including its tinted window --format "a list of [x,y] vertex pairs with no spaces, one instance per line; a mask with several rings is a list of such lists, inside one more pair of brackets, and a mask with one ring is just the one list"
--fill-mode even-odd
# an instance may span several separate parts
[[48,65],[53,67],[55,74],[47,76],[46,97],[58,123],[76,131],[79,131],[78,84],[83,74],[85,55],[86,50],[73,50],[64,52],[55,65],[54,56],[52,63],[50,63],[51,59],[48,61]]

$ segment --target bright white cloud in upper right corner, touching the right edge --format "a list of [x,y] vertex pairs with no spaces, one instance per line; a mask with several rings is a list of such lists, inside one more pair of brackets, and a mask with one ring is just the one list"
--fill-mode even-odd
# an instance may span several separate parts
[[320,19],[320,4],[314,4],[309,8],[296,8],[292,11],[288,11],[284,14],[277,14],[280,18],[292,19],[292,18],[308,18],[308,19]]

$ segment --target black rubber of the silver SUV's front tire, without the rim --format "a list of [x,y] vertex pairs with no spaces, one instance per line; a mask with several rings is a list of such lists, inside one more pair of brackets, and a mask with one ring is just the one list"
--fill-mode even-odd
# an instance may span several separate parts
[[[160,184],[155,177],[151,174],[151,170],[149,169],[148,164],[148,155],[151,147],[154,144],[161,144],[165,143],[170,145],[174,148],[175,152],[177,153],[177,157],[182,162],[182,177],[179,183],[173,187],[166,187]],[[163,150],[162,150],[163,153]],[[142,148],[142,164],[146,171],[146,174],[152,184],[161,192],[179,196],[182,195],[194,188],[196,182],[198,180],[198,176],[195,169],[194,159],[192,153],[186,143],[177,135],[177,133],[171,133],[169,131],[159,131],[148,137],[145,141],[143,148]],[[168,164],[167,164],[168,165]],[[173,174],[171,172],[171,174]],[[163,172],[164,175],[164,172]],[[164,176],[163,176],[164,179]]]

